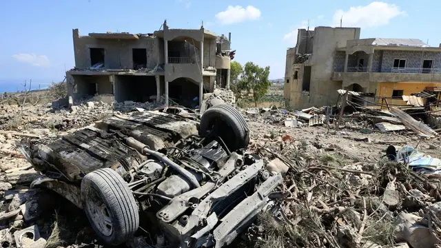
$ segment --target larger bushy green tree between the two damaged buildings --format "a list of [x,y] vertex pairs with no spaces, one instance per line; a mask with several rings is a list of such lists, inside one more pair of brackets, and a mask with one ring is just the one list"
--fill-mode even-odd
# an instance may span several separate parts
[[256,107],[258,99],[267,94],[269,86],[271,85],[268,76],[269,66],[261,68],[253,62],[247,62],[245,64],[245,70],[240,76],[240,87],[247,90],[248,94],[252,94]]

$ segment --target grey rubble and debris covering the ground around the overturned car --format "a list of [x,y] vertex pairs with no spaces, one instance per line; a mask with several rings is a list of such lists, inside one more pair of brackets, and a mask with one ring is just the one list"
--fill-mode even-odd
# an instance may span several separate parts
[[[228,95],[215,92],[204,99],[234,101]],[[62,229],[57,223],[69,222],[72,210],[60,207],[55,214],[42,203],[49,193],[31,187],[39,174],[19,150],[21,138],[54,139],[112,114],[154,107],[132,101],[85,101],[57,110],[0,105],[1,246],[73,248],[97,242],[79,209],[80,227],[61,238],[69,241],[54,238]],[[263,158],[269,174],[284,174],[285,180],[269,196],[276,204],[230,247],[441,247],[441,141],[423,118],[393,107],[240,112],[249,126],[248,149]],[[136,243],[129,247],[142,247]]]

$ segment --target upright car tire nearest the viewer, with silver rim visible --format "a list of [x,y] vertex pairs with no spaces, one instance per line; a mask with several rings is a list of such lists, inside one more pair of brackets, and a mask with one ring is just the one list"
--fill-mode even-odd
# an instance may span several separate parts
[[127,183],[113,169],[97,169],[81,181],[83,209],[99,239],[121,245],[139,227],[136,200]]

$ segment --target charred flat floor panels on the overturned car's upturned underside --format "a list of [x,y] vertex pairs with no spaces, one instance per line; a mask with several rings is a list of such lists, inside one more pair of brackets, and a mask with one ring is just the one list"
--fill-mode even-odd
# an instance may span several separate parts
[[197,134],[196,124],[154,112],[107,118],[96,123],[100,129],[86,127],[48,145],[40,145],[35,156],[57,169],[68,180],[77,181],[96,169],[130,169],[143,161],[139,153],[127,147],[116,135],[119,132],[157,150],[185,136]]

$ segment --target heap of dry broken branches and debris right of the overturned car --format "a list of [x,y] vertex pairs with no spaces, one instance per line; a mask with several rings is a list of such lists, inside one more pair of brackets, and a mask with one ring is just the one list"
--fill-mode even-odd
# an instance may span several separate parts
[[[249,240],[262,247],[435,247],[440,243],[439,177],[402,163],[325,152],[318,143],[286,134],[278,145],[255,143],[275,167],[288,166],[280,189],[279,218],[254,223]],[[281,139],[285,141],[280,141]]]

